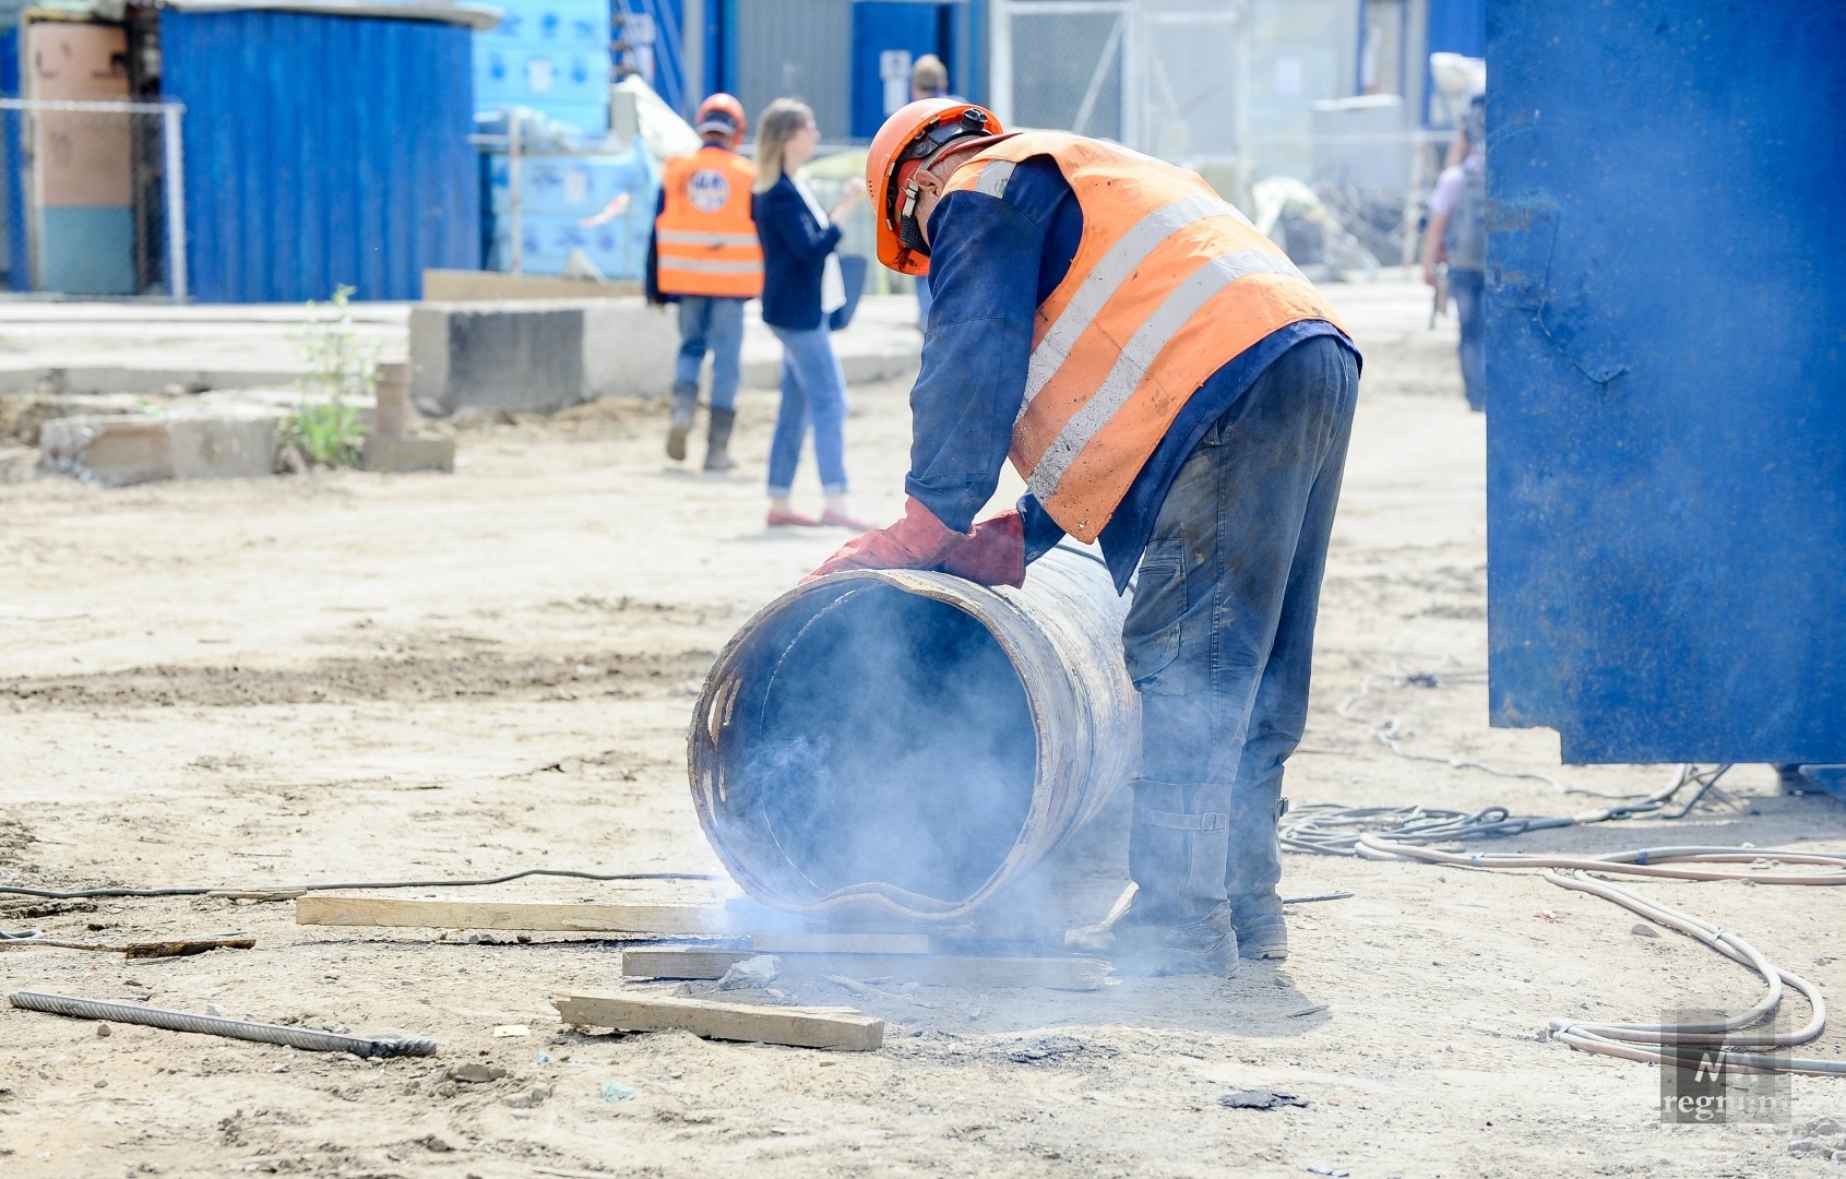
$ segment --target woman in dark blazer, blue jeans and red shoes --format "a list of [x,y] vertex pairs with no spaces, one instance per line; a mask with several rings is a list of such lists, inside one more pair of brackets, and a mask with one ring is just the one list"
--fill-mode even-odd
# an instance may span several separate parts
[[[755,220],[762,238],[762,321],[783,341],[783,400],[770,441],[770,524],[834,524],[864,530],[845,493],[845,373],[833,354],[827,317],[845,306],[840,273],[840,227],[864,196],[847,185],[831,210],[801,181],[814,159],[820,127],[807,103],[777,98],[757,120]],[[797,515],[788,496],[801,463],[801,443],[814,430],[814,461],[825,509]]]

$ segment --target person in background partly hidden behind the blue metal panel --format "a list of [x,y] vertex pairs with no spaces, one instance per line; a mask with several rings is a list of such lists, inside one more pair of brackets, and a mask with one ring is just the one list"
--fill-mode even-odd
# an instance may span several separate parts
[[1429,197],[1429,227],[1423,231],[1423,282],[1442,282],[1438,266],[1447,266],[1455,321],[1462,330],[1456,349],[1462,362],[1462,393],[1469,410],[1488,408],[1488,354],[1482,339],[1486,317],[1488,268],[1488,103],[1475,94],[1456,129],[1451,159]]

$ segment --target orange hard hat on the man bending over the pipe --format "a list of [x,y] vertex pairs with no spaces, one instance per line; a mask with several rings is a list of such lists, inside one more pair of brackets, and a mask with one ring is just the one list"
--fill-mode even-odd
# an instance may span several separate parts
[[879,262],[901,275],[929,273],[929,247],[912,216],[916,173],[949,144],[993,135],[1001,135],[993,111],[954,98],[919,98],[884,120],[866,151]]

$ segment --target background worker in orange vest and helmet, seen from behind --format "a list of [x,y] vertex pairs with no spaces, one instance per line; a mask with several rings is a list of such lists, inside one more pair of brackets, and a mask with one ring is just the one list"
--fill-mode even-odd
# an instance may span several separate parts
[[698,375],[711,352],[711,424],[705,470],[731,470],[731,426],[742,376],[744,303],[762,293],[762,247],[749,220],[755,166],[737,155],[744,107],[729,94],[700,103],[703,137],[692,155],[666,161],[648,238],[648,303],[679,303],[679,358],[674,362],[666,456],[687,456],[698,413]]

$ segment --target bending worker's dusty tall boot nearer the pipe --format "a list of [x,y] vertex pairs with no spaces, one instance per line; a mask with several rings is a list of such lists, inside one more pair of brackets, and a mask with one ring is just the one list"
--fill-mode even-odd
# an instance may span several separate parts
[[1222,786],[1135,779],[1128,875],[1135,884],[1100,923],[1065,943],[1106,954],[1124,974],[1237,974],[1231,906],[1217,897],[1226,863]]

